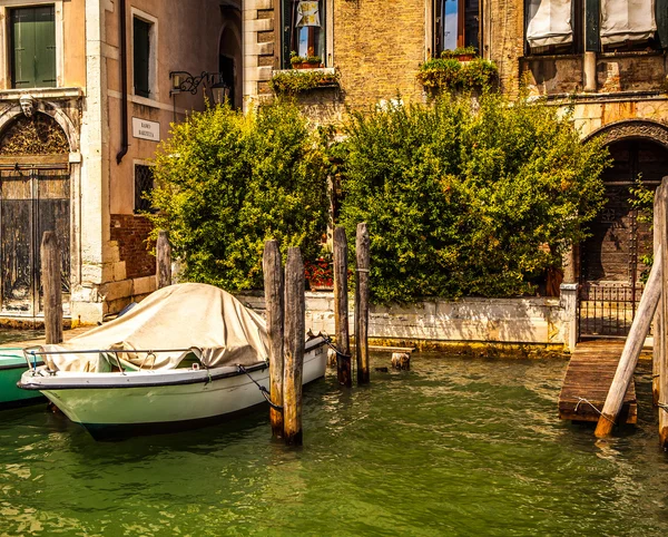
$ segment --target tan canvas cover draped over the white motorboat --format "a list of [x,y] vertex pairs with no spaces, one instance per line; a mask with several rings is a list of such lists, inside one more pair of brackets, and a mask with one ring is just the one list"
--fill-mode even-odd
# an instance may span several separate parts
[[[247,365],[268,360],[265,322],[229,293],[203,283],[170,285],[147,296],[128,313],[67,343],[46,350],[72,351],[46,357],[52,369],[108,371],[114,353],[77,350],[122,349],[120,358],[141,369],[173,369],[196,348],[207,368]],[[155,355],[132,350],[173,350]]]

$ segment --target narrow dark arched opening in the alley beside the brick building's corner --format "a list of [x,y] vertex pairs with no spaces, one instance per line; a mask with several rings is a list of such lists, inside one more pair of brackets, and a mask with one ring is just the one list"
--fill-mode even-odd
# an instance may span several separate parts
[[218,42],[218,70],[223,75],[223,81],[229,88],[227,98],[230,106],[242,108],[244,100],[242,11],[239,6],[232,1],[220,6],[220,11],[224,22]]

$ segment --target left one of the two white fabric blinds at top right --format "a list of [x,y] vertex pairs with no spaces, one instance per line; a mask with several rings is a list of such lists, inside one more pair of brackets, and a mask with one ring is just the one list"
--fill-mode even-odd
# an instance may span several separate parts
[[527,40],[531,47],[572,42],[571,0],[530,0]]

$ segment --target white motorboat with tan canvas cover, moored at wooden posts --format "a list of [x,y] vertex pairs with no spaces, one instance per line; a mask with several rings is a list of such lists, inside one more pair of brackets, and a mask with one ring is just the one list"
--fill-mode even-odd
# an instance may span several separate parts
[[[305,343],[303,382],[324,377],[326,340]],[[267,399],[264,320],[205,284],[156,291],[124,316],[28,352],[39,390],[95,438],[199,427]]]

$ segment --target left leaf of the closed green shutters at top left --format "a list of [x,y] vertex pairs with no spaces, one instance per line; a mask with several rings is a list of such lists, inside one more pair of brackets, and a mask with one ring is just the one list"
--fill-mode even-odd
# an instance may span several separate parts
[[35,87],[35,10],[11,10],[11,85],[13,88]]

